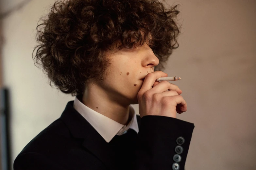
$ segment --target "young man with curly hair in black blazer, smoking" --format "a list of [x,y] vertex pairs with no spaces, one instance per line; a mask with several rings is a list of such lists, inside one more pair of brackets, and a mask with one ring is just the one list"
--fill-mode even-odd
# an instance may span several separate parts
[[176,118],[187,110],[179,87],[156,81],[168,76],[162,64],[179,46],[176,7],[55,2],[38,25],[34,61],[76,98],[26,145],[14,170],[184,169],[194,124]]

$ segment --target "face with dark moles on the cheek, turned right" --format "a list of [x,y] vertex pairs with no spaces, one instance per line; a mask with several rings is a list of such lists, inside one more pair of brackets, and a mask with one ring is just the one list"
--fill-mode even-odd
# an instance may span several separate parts
[[111,100],[123,105],[138,104],[137,94],[148,73],[159,64],[147,43],[133,49],[115,49],[110,55],[111,66],[104,82],[97,83]]

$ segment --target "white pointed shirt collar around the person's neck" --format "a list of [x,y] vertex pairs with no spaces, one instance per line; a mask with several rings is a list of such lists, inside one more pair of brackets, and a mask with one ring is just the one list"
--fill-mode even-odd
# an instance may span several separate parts
[[73,107],[94,127],[106,142],[110,142],[115,135],[125,134],[129,128],[135,130],[137,134],[139,133],[136,113],[132,106],[130,106],[132,119],[128,125],[118,123],[115,120],[96,112],[90,107],[84,105],[77,97],[74,100]]

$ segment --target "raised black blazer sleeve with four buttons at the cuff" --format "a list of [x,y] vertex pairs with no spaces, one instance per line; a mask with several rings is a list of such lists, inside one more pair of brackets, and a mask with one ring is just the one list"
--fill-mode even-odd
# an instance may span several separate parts
[[141,118],[135,170],[184,170],[194,124],[166,116]]

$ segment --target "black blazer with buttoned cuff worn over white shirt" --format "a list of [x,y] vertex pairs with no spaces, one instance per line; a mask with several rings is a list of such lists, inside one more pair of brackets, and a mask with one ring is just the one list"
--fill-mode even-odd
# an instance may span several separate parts
[[[183,152],[179,154],[179,170],[184,170],[193,123],[165,116],[137,115],[139,134],[132,132],[136,133],[136,140],[132,139],[136,144],[134,155],[130,162],[119,165],[110,144],[73,104],[74,101],[68,102],[60,118],[25,146],[14,160],[14,170],[171,170],[174,155],[180,150]],[[176,148],[178,145],[182,148]]]

